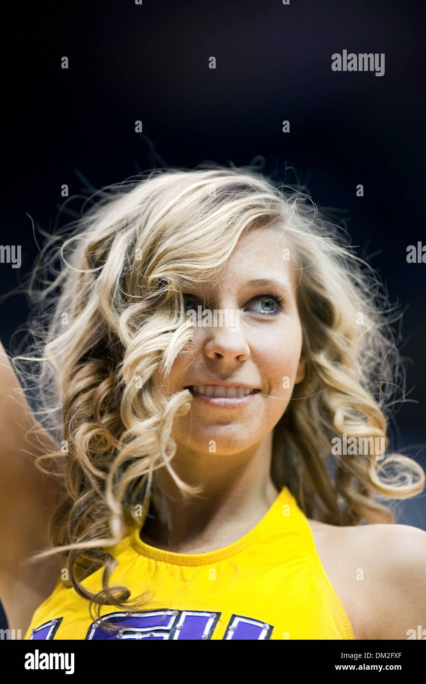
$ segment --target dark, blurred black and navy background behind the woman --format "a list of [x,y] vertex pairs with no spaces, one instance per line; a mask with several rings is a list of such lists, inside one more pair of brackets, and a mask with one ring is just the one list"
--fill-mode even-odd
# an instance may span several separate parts
[[[19,3],[14,12],[3,27],[1,244],[21,244],[23,263],[0,264],[0,295],[38,251],[27,213],[51,232],[62,184],[87,197],[88,187],[155,166],[247,166],[258,157],[265,174],[337,210],[405,311],[408,403],[392,447],[426,468],[426,265],[406,261],[408,245],[426,244],[422,3],[114,0]],[[385,53],[384,76],[333,72],[331,55],[343,49]],[[27,315],[22,295],[0,300],[6,348]],[[425,495],[399,503],[397,514],[426,529]]]

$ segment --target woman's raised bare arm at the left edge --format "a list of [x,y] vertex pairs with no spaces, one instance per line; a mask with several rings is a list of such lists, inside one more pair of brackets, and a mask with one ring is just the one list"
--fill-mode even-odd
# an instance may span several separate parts
[[37,439],[27,436],[34,425],[36,419],[0,343],[0,598],[8,618],[25,601],[25,592],[37,602],[39,595],[51,591],[58,573],[56,556],[36,565],[23,563],[49,545],[47,526],[59,495],[56,480],[35,465],[36,456],[57,447],[46,433]]

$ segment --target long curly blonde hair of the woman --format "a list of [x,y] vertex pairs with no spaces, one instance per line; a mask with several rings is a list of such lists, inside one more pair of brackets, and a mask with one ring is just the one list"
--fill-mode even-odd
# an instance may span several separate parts
[[[306,377],[274,428],[276,488],[288,486],[310,518],[357,525],[394,522],[377,499],[413,497],[425,483],[405,456],[331,449],[343,434],[384,438],[387,447],[390,411],[403,395],[392,310],[377,276],[307,195],[250,168],[209,166],[157,169],[104,189],[66,226],[65,240],[59,233],[47,241],[31,279],[42,313],[33,317],[32,354],[14,364],[58,445],[38,466],[63,487],[52,548],[35,557],[62,553],[66,586],[90,601],[94,618],[102,605],[150,601],[148,589],[131,600],[128,588],[110,586],[117,562],[108,548],[138,524],[135,510],[155,472],[167,468],[185,496],[200,491],[172,466],[172,423],[189,410],[191,394],[167,396],[152,376],[167,374],[191,341],[185,288],[214,278],[249,229],[285,231],[306,357]],[[102,590],[92,593],[81,582],[99,568]]]

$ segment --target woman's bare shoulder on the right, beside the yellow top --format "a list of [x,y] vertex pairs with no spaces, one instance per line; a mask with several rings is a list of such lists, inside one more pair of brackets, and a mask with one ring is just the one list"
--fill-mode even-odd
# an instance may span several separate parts
[[308,523],[357,639],[408,639],[418,625],[426,629],[425,531]]

